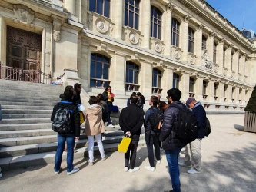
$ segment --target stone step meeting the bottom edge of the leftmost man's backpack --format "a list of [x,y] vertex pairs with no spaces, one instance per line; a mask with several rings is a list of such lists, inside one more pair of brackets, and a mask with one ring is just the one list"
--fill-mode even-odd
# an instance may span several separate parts
[[[1,121],[0,121],[1,122]],[[0,124],[0,131],[52,129],[52,123],[41,124]]]

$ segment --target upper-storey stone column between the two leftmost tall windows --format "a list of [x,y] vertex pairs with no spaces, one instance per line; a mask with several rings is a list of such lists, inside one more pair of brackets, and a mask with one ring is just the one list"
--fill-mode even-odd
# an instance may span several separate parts
[[120,1],[120,0],[115,0],[115,5],[112,6],[115,8],[114,12],[115,13],[115,38],[120,38],[122,37],[122,31],[123,31],[123,13],[124,13],[124,2],[125,1]]

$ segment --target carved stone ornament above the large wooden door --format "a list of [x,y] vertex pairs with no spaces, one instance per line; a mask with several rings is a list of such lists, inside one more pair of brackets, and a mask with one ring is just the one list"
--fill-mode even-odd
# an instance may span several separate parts
[[13,11],[18,22],[31,25],[34,20],[34,12],[25,5],[13,5]]

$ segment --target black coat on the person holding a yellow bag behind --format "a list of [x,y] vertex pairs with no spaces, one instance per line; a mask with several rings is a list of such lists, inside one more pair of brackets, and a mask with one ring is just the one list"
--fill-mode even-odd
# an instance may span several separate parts
[[119,125],[125,133],[130,131],[131,135],[140,135],[143,121],[141,109],[135,104],[129,104],[128,107],[121,110]]

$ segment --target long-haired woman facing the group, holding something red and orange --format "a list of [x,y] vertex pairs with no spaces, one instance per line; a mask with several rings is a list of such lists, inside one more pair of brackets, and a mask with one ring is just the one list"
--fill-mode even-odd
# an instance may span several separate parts
[[114,94],[112,94],[111,89],[112,89],[111,86],[108,85],[107,88],[105,88],[105,91],[102,93],[102,97],[108,106],[107,126],[114,127],[114,125],[111,124],[111,118],[110,118],[111,108],[113,107],[113,102],[114,102]]

